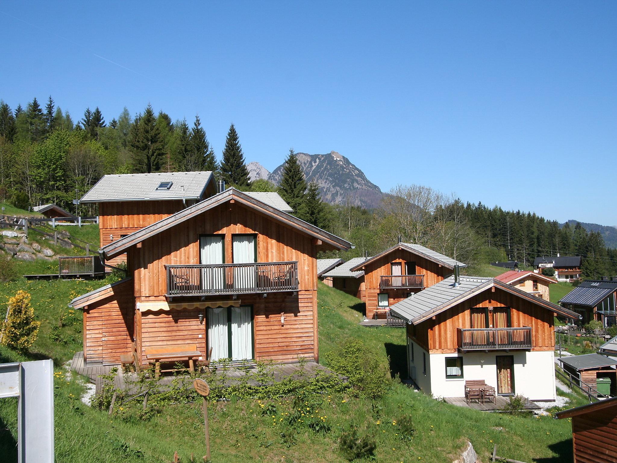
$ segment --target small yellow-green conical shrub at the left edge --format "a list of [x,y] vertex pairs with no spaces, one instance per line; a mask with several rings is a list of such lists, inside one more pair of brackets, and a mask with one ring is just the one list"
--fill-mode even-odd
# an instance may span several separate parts
[[40,325],[30,305],[30,294],[19,290],[9,299],[9,317],[2,327],[2,344],[26,352],[36,340]]

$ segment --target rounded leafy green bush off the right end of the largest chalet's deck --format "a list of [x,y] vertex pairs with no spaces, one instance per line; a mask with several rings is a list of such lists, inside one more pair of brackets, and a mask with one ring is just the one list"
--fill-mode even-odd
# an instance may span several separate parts
[[382,396],[389,386],[387,365],[360,340],[343,341],[335,351],[326,354],[326,361],[336,373],[349,378],[354,390],[371,399]]

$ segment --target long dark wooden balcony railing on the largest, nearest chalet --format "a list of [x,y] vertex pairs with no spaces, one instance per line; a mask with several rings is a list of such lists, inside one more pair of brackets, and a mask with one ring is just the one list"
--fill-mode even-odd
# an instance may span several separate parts
[[280,293],[298,290],[297,262],[165,265],[167,296]]

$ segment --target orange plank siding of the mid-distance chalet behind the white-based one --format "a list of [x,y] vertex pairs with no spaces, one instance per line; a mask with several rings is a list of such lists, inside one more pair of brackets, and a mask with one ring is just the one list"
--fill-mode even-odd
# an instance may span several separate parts
[[378,308],[377,295],[379,293],[388,293],[390,296],[389,305],[402,301],[407,298],[407,293],[417,293],[422,288],[410,288],[408,290],[384,290],[379,288],[382,275],[391,275],[392,270],[390,265],[392,262],[400,262],[402,272],[405,273],[405,262],[416,263],[416,275],[424,275],[424,288],[436,285],[444,280],[445,277],[452,275],[452,270],[442,265],[429,261],[424,257],[413,254],[406,249],[394,249],[385,256],[379,257],[374,262],[369,262],[364,268],[365,282],[365,298],[366,302],[366,318],[372,319]]

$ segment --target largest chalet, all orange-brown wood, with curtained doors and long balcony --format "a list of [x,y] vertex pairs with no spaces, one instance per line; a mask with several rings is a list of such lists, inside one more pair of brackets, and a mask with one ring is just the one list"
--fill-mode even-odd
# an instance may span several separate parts
[[128,277],[73,299],[85,360],[317,360],[317,252],[350,246],[234,188],[197,202],[100,250]]

